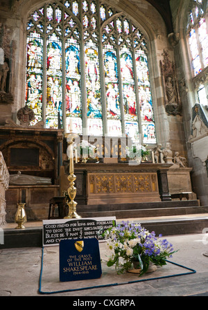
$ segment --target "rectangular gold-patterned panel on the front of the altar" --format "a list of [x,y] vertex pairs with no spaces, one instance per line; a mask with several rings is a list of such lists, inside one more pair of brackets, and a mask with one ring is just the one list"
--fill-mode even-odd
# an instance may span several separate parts
[[155,172],[87,174],[88,203],[160,201]]

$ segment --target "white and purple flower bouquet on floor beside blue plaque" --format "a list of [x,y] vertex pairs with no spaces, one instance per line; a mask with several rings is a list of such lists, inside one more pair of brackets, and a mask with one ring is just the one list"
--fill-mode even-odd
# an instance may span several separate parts
[[136,268],[141,268],[140,275],[148,271],[150,262],[156,266],[166,264],[166,258],[171,257],[175,251],[166,239],[149,233],[140,224],[122,222],[117,226],[108,228],[103,233],[107,246],[112,255],[107,261],[107,266],[113,266],[117,273],[130,271],[133,262],[139,262]]

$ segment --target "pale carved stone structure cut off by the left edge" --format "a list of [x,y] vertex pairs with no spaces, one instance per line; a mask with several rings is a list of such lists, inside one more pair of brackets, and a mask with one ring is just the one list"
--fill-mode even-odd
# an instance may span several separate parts
[[0,226],[6,224],[6,199],[5,192],[8,190],[10,175],[0,152]]

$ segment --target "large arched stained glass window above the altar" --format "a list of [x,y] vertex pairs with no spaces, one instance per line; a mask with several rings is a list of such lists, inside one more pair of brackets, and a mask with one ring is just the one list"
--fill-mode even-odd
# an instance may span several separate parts
[[[206,51],[203,22],[198,30]],[[34,10],[26,31],[34,124],[156,143],[147,43],[130,19],[99,0],[54,0]]]

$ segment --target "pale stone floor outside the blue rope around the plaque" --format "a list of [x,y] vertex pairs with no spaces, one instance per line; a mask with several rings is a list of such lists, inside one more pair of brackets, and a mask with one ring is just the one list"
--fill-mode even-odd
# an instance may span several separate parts
[[[11,224],[11,226],[14,224]],[[37,224],[34,224],[37,225]],[[166,239],[170,241],[175,250],[170,261],[191,268],[196,273],[167,277],[163,279],[148,280],[116,286],[105,286],[80,291],[54,293],[51,295],[71,296],[76,299],[104,298],[105,296],[134,297],[137,296],[208,296],[208,228],[200,234],[173,235]],[[164,236],[165,237],[165,236]],[[101,256],[105,252],[105,242],[100,243]],[[53,273],[53,264],[56,246],[47,247],[50,254],[46,262],[46,271]],[[53,263],[53,264],[52,264]],[[57,262],[58,264],[58,262]],[[42,266],[42,248],[8,248],[0,250],[0,296],[43,296],[39,293],[40,271]],[[51,268],[51,269],[50,269]],[[187,271],[180,271],[180,273]],[[102,275],[104,277],[104,275]],[[137,280],[137,275],[132,275]],[[92,281],[91,286],[94,284]],[[105,282],[105,277],[102,279]],[[112,275],[112,283],[114,282]],[[67,282],[68,283],[68,282]],[[56,283],[58,285],[58,282]],[[71,282],[69,283],[71,284]],[[52,284],[51,284],[52,285]],[[76,284],[78,285],[78,284]],[[57,286],[58,287],[58,286]],[[53,289],[52,289],[53,291]],[[46,294],[47,295],[47,294]],[[44,295],[44,296],[46,296]],[[50,295],[50,296],[51,296]]]

